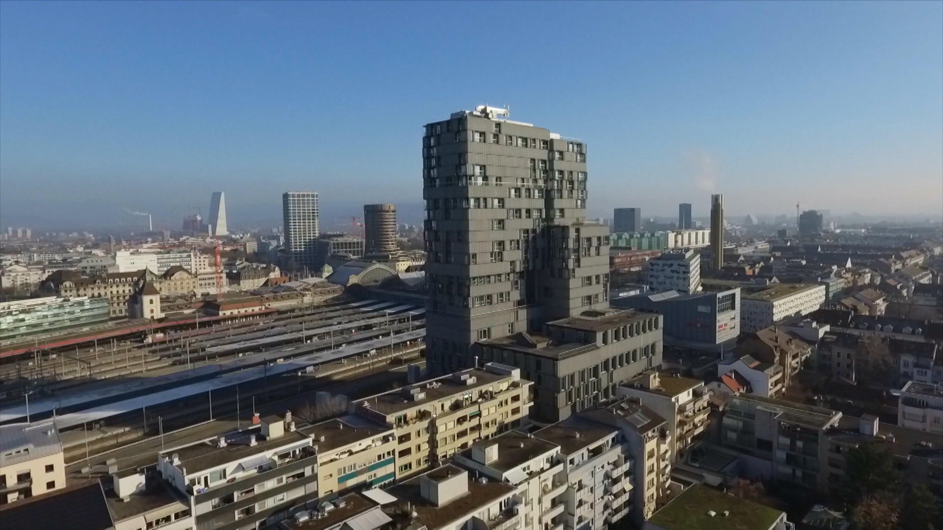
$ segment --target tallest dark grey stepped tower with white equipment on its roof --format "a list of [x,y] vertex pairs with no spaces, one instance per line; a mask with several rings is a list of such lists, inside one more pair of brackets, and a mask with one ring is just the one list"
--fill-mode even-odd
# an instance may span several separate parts
[[608,306],[609,235],[587,224],[586,145],[478,107],[425,125],[426,361]]

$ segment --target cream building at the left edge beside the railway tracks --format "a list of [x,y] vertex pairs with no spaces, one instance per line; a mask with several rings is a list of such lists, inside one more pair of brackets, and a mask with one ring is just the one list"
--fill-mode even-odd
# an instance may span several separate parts
[[56,423],[0,425],[0,505],[62,488],[65,461]]

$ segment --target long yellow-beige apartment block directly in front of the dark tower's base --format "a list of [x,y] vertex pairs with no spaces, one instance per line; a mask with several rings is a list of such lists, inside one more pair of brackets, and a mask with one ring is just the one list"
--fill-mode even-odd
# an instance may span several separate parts
[[527,421],[530,381],[488,363],[356,402],[356,413],[396,435],[396,479],[421,472]]

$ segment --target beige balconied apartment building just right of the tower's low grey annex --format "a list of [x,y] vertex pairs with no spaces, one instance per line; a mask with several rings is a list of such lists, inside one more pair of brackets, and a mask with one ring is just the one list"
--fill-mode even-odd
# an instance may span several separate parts
[[704,389],[701,379],[649,371],[630,379],[617,392],[636,398],[668,422],[671,462],[706,429],[711,391]]

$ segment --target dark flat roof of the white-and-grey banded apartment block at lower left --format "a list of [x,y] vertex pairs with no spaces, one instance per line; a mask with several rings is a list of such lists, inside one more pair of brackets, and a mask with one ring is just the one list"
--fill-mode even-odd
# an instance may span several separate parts
[[[249,445],[247,440],[250,435],[256,435],[256,445]],[[261,438],[259,429],[243,429],[225,435],[226,445],[223,447],[217,447],[216,438],[213,438],[164,451],[161,455],[178,455],[180,467],[187,468],[187,473],[192,474],[308,439],[297,431],[286,431],[284,435],[273,439]]]

